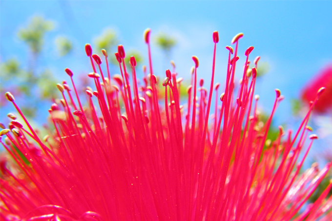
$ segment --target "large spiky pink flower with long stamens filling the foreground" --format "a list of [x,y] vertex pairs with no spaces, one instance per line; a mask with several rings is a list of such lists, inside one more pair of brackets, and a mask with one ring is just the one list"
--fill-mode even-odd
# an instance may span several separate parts
[[[233,81],[242,33],[231,41],[234,50],[226,47],[227,80],[221,101],[219,85],[213,82],[219,41],[218,32],[214,32],[210,89],[203,87],[204,80],[197,88],[199,60],[193,56],[192,83],[187,88],[185,105],[180,105],[181,80],[177,79],[175,65],[173,72],[166,70],[164,88],[158,86],[149,36],[147,29],[144,40],[150,74],[145,74],[143,84],[137,82],[134,57],[129,64],[132,73],[127,73],[122,45],[115,53],[121,76],[114,75],[111,80],[108,68],[108,78],[102,71],[102,59],[93,55],[91,46],[86,44],[93,69],[88,76],[94,80],[96,90],[86,90],[88,107],[83,108],[72,80],[73,72],[65,69],[74,90],[67,83],[57,85],[63,97],[59,105],[54,103],[49,110],[55,133],[43,141],[24,118],[14,97],[6,93],[30,132],[18,121],[12,121],[10,129],[0,132],[2,138],[6,136],[2,145],[14,159],[2,159],[0,163],[1,219],[331,220],[332,198],[325,197],[332,184],[316,202],[300,211],[332,165],[328,163],[319,170],[313,164],[300,173],[317,138],[309,136],[307,123],[324,88],[315,93],[313,105],[294,134],[279,127],[277,140],[266,141],[271,119],[283,96],[275,89],[270,118],[265,123],[259,121],[259,97],[254,96],[258,59],[255,67],[249,69],[252,46],[245,52],[244,74],[235,92]],[[107,58],[107,53],[103,54]],[[163,101],[158,100],[160,90],[165,90]],[[215,121],[209,124],[213,90],[221,110],[215,109]],[[98,108],[93,100],[98,102]],[[299,158],[302,149],[305,155]]]

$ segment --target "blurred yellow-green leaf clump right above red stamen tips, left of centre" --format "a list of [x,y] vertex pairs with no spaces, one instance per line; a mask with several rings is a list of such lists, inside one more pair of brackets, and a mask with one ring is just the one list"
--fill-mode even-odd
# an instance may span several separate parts
[[96,50],[99,54],[102,49],[109,52],[112,47],[118,44],[118,42],[116,32],[110,28],[105,29],[104,32],[94,40]]

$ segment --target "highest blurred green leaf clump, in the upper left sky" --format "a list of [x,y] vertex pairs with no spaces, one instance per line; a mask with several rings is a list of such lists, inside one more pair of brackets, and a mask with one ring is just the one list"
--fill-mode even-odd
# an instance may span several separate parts
[[18,36],[29,45],[32,53],[39,54],[42,51],[45,33],[53,28],[54,23],[52,21],[35,16],[26,28],[20,29]]

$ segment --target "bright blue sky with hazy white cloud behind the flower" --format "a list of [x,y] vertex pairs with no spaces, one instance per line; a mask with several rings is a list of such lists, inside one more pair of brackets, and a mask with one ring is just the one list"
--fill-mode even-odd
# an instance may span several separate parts
[[[59,81],[68,80],[63,69],[74,73],[90,72],[83,47],[99,36],[107,27],[117,31],[125,49],[135,48],[146,59],[146,45],[142,35],[152,29],[152,37],[164,31],[178,39],[171,59],[177,72],[189,78],[192,55],[200,60],[198,77],[211,74],[212,32],[219,31],[215,81],[224,82],[228,52],[226,45],[239,32],[240,63],[244,51],[254,46],[250,60],[261,56],[269,62],[270,72],[262,77],[256,93],[261,104],[270,111],[274,88],[279,88],[286,99],[276,113],[279,123],[288,121],[290,99],[297,98],[300,89],[324,65],[332,62],[332,1],[0,1],[0,59],[16,57],[27,66],[26,45],[17,38],[20,27],[26,26],[34,15],[56,22],[56,28],[45,37],[39,64],[47,66]],[[54,40],[66,36],[74,42],[71,56],[59,58]],[[109,53],[112,54],[112,53]],[[156,74],[164,74],[164,57],[160,49],[152,47]],[[26,62],[24,62],[26,61]],[[170,67],[169,67],[170,68]],[[113,70],[117,73],[118,70]],[[238,68],[238,75],[241,75]],[[1,97],[3,99],[3,97]],[[48,107],[41,110],[47,113]],[[4,113],[5,112],[5,113]],[[1,119],[7,108],[1,111]]]

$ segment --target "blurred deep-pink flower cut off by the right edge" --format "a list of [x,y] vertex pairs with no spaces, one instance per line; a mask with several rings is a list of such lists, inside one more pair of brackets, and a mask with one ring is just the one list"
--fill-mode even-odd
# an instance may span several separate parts
[[315,98],[316,91],[321,87],[325,87],[325,92],[313,108],[318,113],[327,112],[332,107],[332,64],[327,65],[306,85],[302,91],[302,100],[310,104]]

